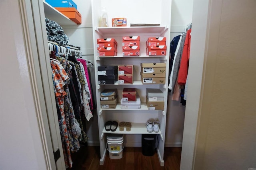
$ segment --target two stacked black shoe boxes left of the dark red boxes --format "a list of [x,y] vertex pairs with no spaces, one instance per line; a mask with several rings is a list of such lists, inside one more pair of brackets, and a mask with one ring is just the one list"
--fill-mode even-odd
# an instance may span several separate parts
[[115,84],[118,78],[117,66],[98,66],[98,83]]

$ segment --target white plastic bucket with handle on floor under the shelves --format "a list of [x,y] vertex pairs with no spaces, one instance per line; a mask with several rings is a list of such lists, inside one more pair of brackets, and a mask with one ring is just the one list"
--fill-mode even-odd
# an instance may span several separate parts
[[110,159],[120,159],[123,156],[124,139],[123,135],[109,134],[107,136],[106,147]]

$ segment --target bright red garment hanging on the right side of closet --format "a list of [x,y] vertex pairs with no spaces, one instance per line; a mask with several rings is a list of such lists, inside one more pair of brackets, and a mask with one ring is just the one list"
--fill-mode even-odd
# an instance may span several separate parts
[[190,39],[191,39],[191,29],[187,31],[186,39],[184,42],[184,48],[182,52],[182,57],[180,61],[180,70],[178,74],[178,84],[185,85],[188,76],[188,64],[190,57]]

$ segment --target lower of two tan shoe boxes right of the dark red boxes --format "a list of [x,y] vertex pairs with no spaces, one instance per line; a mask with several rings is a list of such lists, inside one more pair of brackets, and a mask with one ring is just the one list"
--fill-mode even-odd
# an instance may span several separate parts
[[[165,84],[165,77],[160,77],[162,74],[142,74],[140,78],[142,84]],[[165,75],[165,74],[164,74]]]

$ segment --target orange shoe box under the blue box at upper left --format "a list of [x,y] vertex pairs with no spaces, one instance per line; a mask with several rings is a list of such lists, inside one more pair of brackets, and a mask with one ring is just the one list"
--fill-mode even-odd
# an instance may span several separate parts
[[78,23],[78,24],[82,23],[82,16],[78,12],[78,10],[76,10],[76,8],[56,7],[55,9],[58,10],[59,12],[61,12],[66,17],[68,17],[70,20],[74,21],[75,23]]

